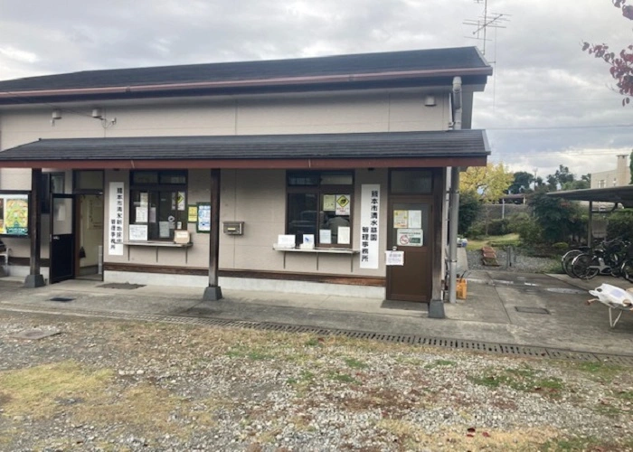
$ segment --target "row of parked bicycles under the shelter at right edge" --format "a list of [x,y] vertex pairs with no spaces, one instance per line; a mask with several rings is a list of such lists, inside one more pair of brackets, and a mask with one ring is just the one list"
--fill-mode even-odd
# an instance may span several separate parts
[[561,265],[572,278],[607,275],[633,282],[633,243],[620,239],[603,240],[593,248],[569,250],[562,256]]

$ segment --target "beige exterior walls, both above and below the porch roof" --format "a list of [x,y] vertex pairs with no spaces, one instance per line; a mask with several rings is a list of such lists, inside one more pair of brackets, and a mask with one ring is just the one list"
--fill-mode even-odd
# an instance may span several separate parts
[[[51,125],[52,108],[5,108],[0,121],[0,148],[24,145],[39,138],[73,137],[156,137],[156,136],[222,136],[307,133],[387,132],[445,130],[449,125],[449,99],[436,93],[437,106],[424,107],[425,93],[377,91],[364,94],[335,93],[334,95],[261,96],[239,99],[147,101],[145,105],[110,101],[103,111],[105,124],[91,118],[90,105],[73,105],[71,111],[62,108],[62,118]],[[135,101],[140,104],[142,100]],[[100,106],[99,106],[100,107]],[[76,112],[82,113],[82,115]],[[110,120],[116,118],[116,124]],[[221,225],[223,221],[245,221],[243,236],[220,236],[220,267],[266,271],[345,274],[383,277],[384,256],[380,268],[360,269],[359,256],[354,255],[352,267],[346,255],[288,253],[284,268],[284,253],[272,249],[277,236],[286,229],[286,179],[284,170],[223,170],[221,175]],[[351,248],[359,248],[361,184],[381,184],[380,250],[387,240],[387,178],[386,169],[354,174],[354,227]],[[104,221],[105,262],[136,265],[208,268],[209,235],[195,232],[189,224],[194,246],[182,249],[156,249],[125,246],[123,256],[110,256],[107,224],[109,183],[124,182],[126,191],[125,225],[129,215],[129,173],[109,170],[105,173]],[[206,170],[191,170],[188,177],[187,204],[210,200],[210,174]],[[30,171],[0,169],[0,189],[29,190]],[[66,192],[71,193],[71,172],[66,172]],[[48,257],[48,216],[43,216],[43,258]],[[124,231],[125,240],[128,231]],[[29,256],[28,240],[6,239],[15,257]],[[352,269],[350,269],[352,268]]]

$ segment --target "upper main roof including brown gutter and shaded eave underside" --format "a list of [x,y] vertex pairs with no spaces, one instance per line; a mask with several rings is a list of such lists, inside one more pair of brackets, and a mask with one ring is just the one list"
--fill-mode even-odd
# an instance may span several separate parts
[[277,61],[80,71],[0,81],[0,106],[120,99],[452,86],[481,90],[492,67],[476,47]]

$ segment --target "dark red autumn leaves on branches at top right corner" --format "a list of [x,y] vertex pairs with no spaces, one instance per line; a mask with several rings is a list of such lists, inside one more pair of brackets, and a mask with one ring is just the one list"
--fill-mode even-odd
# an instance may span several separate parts
[[[624,17],[633,21],[633,5],[627,5],[627,0],[611,0],[611,3],[622,11]],[[609,64],[609,73],[616,80],[617,90],[624,96],[622,105],[630,103],[633,96],[633,44],[616,53],[610,52],[608,44],[583,42],[582,50]]]

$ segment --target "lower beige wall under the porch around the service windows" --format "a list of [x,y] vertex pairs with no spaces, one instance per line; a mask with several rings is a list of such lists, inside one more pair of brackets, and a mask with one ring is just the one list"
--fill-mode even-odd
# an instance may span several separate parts
[[[289,271],[323,274],[350,274],[356,276],[383,276],[384,256],[380,256],[380,268],[359,268],[359,255],[319,255],[318,268],[314,253],[288,253],[284,267],[284,253],[273,250],[279,234],[286,231],[286,177],[285,170],[222,170],[220,194],[220,223],[223,221],[244,221],[244,234],[231,236],[220,233],[220,268],[261,271]],[[360,192],[361,184],[380,184],[381,224],[380,249],[386,250],[387,243],[387,177],[386,169],[355,172],[353,198],[354,225],[351,248],[360,248]],[[190,170],[187,203],[210,202],[211,176],[208,170]],[[104,205],[106,213],[109,205],[108,184],[124,182],[124,197],[128,200],[128,171],[107,171]],[[107,215],[106,215],[107,217]],[[124,209],[125,224],[128,224],[129,205]],[[195,223],[188,224],[194,246],[188,250],[156,249],[144,246],[124,246],[123,256],[111,256],[104,240],[105,262],[136,265],[158,265],[191,268],[208,268],[209,234],[195,231]],[[128,231],[124,231],[128,240]],[[27,243],[28,245],[28,243]],[[28,248],[26,250],[28,253]],[[157,258],[156,258],[157,254]],[[28,254],[27,254],[28,255]],[[353,259],[350,262],[350,259]]]

